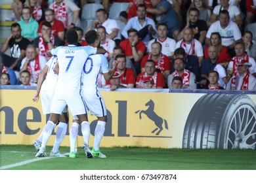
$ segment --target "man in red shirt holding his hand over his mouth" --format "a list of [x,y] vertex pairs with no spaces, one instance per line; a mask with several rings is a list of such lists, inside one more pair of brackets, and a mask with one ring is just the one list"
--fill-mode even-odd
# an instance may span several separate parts
[[128,39],[121,41],[120,46],[124,50],[126,57],[133,61],[137,75],[140,73],[140,60],[146,52],[146,45],[139,40],[138,31],[136,29],[129,29],[127,31]]

